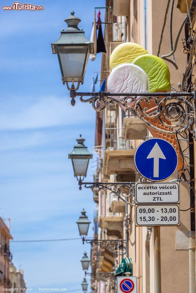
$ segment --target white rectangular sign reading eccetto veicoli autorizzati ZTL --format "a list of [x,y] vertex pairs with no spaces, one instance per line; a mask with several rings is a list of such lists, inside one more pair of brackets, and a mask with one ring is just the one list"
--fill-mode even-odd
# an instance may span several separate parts
[[180,203],[178,182],[136,182],[136,203]]

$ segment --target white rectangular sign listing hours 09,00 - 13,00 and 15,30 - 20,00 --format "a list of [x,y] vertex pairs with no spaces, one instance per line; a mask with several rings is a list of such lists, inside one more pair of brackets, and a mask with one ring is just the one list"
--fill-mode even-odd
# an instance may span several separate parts
[[136,226],[179,225],[179,205],[136,205]]

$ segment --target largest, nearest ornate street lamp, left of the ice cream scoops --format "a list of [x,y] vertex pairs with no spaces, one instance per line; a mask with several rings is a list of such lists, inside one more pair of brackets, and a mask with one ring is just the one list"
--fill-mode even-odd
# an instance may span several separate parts
[[[60,38],[51,44],[53,54],[58,55],[62,82],[66,83],[69,91],[77,90],[80,83],[83,84],[89,53],[94,52],[94,44],[85,37],[85,32],[79,29],[80,18],[71,12],[71,16],[65,19],[66,30],[61,31]],[[72,83],[71,88],[68,82]],[[75,88],[74,82],[77,82]],[[75,105],[72,100],[72,105]]]

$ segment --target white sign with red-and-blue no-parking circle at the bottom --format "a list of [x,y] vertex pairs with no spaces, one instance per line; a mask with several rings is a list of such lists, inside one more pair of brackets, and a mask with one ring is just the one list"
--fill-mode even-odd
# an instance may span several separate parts
[[117,277],[117,293],[137,293],[137,278],[134,276]]

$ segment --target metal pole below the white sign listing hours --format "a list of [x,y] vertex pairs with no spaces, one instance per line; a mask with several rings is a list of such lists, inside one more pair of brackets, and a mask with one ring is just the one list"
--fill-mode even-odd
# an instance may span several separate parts
[[154,293],[161,293],[160,226],[153,227],[154,236]]

